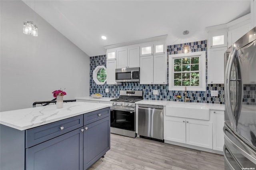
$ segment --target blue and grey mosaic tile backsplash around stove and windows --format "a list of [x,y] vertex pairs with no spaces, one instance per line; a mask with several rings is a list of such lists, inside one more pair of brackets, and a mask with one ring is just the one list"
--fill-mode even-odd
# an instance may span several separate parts
[[[206,51],[206,68],[207,68],[207,40],[186,43],[189,45],[189,52]],[[183,44],[168,45],[167,53],[178,54],[182,53]],[[167,57],[168,58],[168,57]],[[106,55],[98,55],[90,57],[90,95],[94,93],[100,93],[103,97],[119,97],[120,90],[142,90],[143,99],[150,100],[168,100],[176,101],[175,95],[181,95],[180,101],[184,101],[184,91],[169,91],[167,85],[141,85],[139,83],[122,83],[122,85],[97,85],[92,76],[93,70],[98,65],[104,65],[106,67]],[[167,67],[168,59],[167,59]],[[168,80],[169,77],[167,77]],[[207,80],[207,69],[206,69],[206,80]],[[105,93],[105,89],[109,89],[109,93]],[[158,90],[158,95],[153,95],[153,90]],[[218,97],[212,97],[210,95],[211,90],[218,91]],[[224,84],[206,84],[206,91],[188,91],[187,96],[190,98],[190,102],[198,103],[218,103],[224,104]]]

